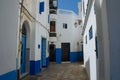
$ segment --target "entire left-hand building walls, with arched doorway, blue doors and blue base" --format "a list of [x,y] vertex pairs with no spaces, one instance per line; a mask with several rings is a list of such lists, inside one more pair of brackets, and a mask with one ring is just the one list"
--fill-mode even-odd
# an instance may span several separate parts
[[27,74],[40,73],[49,64],[49,1],[0,3],[0,44],[4,45],[0,46],[0,80],[19,80]]

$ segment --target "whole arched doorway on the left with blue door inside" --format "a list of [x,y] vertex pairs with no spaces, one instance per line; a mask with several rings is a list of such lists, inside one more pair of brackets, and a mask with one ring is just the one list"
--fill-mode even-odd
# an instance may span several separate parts
[[29,73],[29,57],[30,57],[30,30],[27,21],[22,25],[22,47],[21,47],[21,77]]

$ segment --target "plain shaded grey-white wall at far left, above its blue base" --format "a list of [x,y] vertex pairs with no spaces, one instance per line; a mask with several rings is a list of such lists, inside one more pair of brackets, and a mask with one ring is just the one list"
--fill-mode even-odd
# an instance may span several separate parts
[[0,75],[16,70],[18,0],[0,1]]

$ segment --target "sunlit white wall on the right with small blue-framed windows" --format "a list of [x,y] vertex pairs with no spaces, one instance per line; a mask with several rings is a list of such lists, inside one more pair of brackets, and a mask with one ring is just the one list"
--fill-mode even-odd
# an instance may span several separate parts
[[97,35],[95,0],[82,0],[84,65],[90,80],[97,80]]

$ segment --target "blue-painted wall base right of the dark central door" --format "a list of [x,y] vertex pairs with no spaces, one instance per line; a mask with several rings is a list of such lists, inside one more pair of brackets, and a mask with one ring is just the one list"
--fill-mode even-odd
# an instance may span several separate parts
[[80,61],[80,59],[83,58],[83,52],[71,52],[70,53],[70,61],[71,62],[77,62]]

